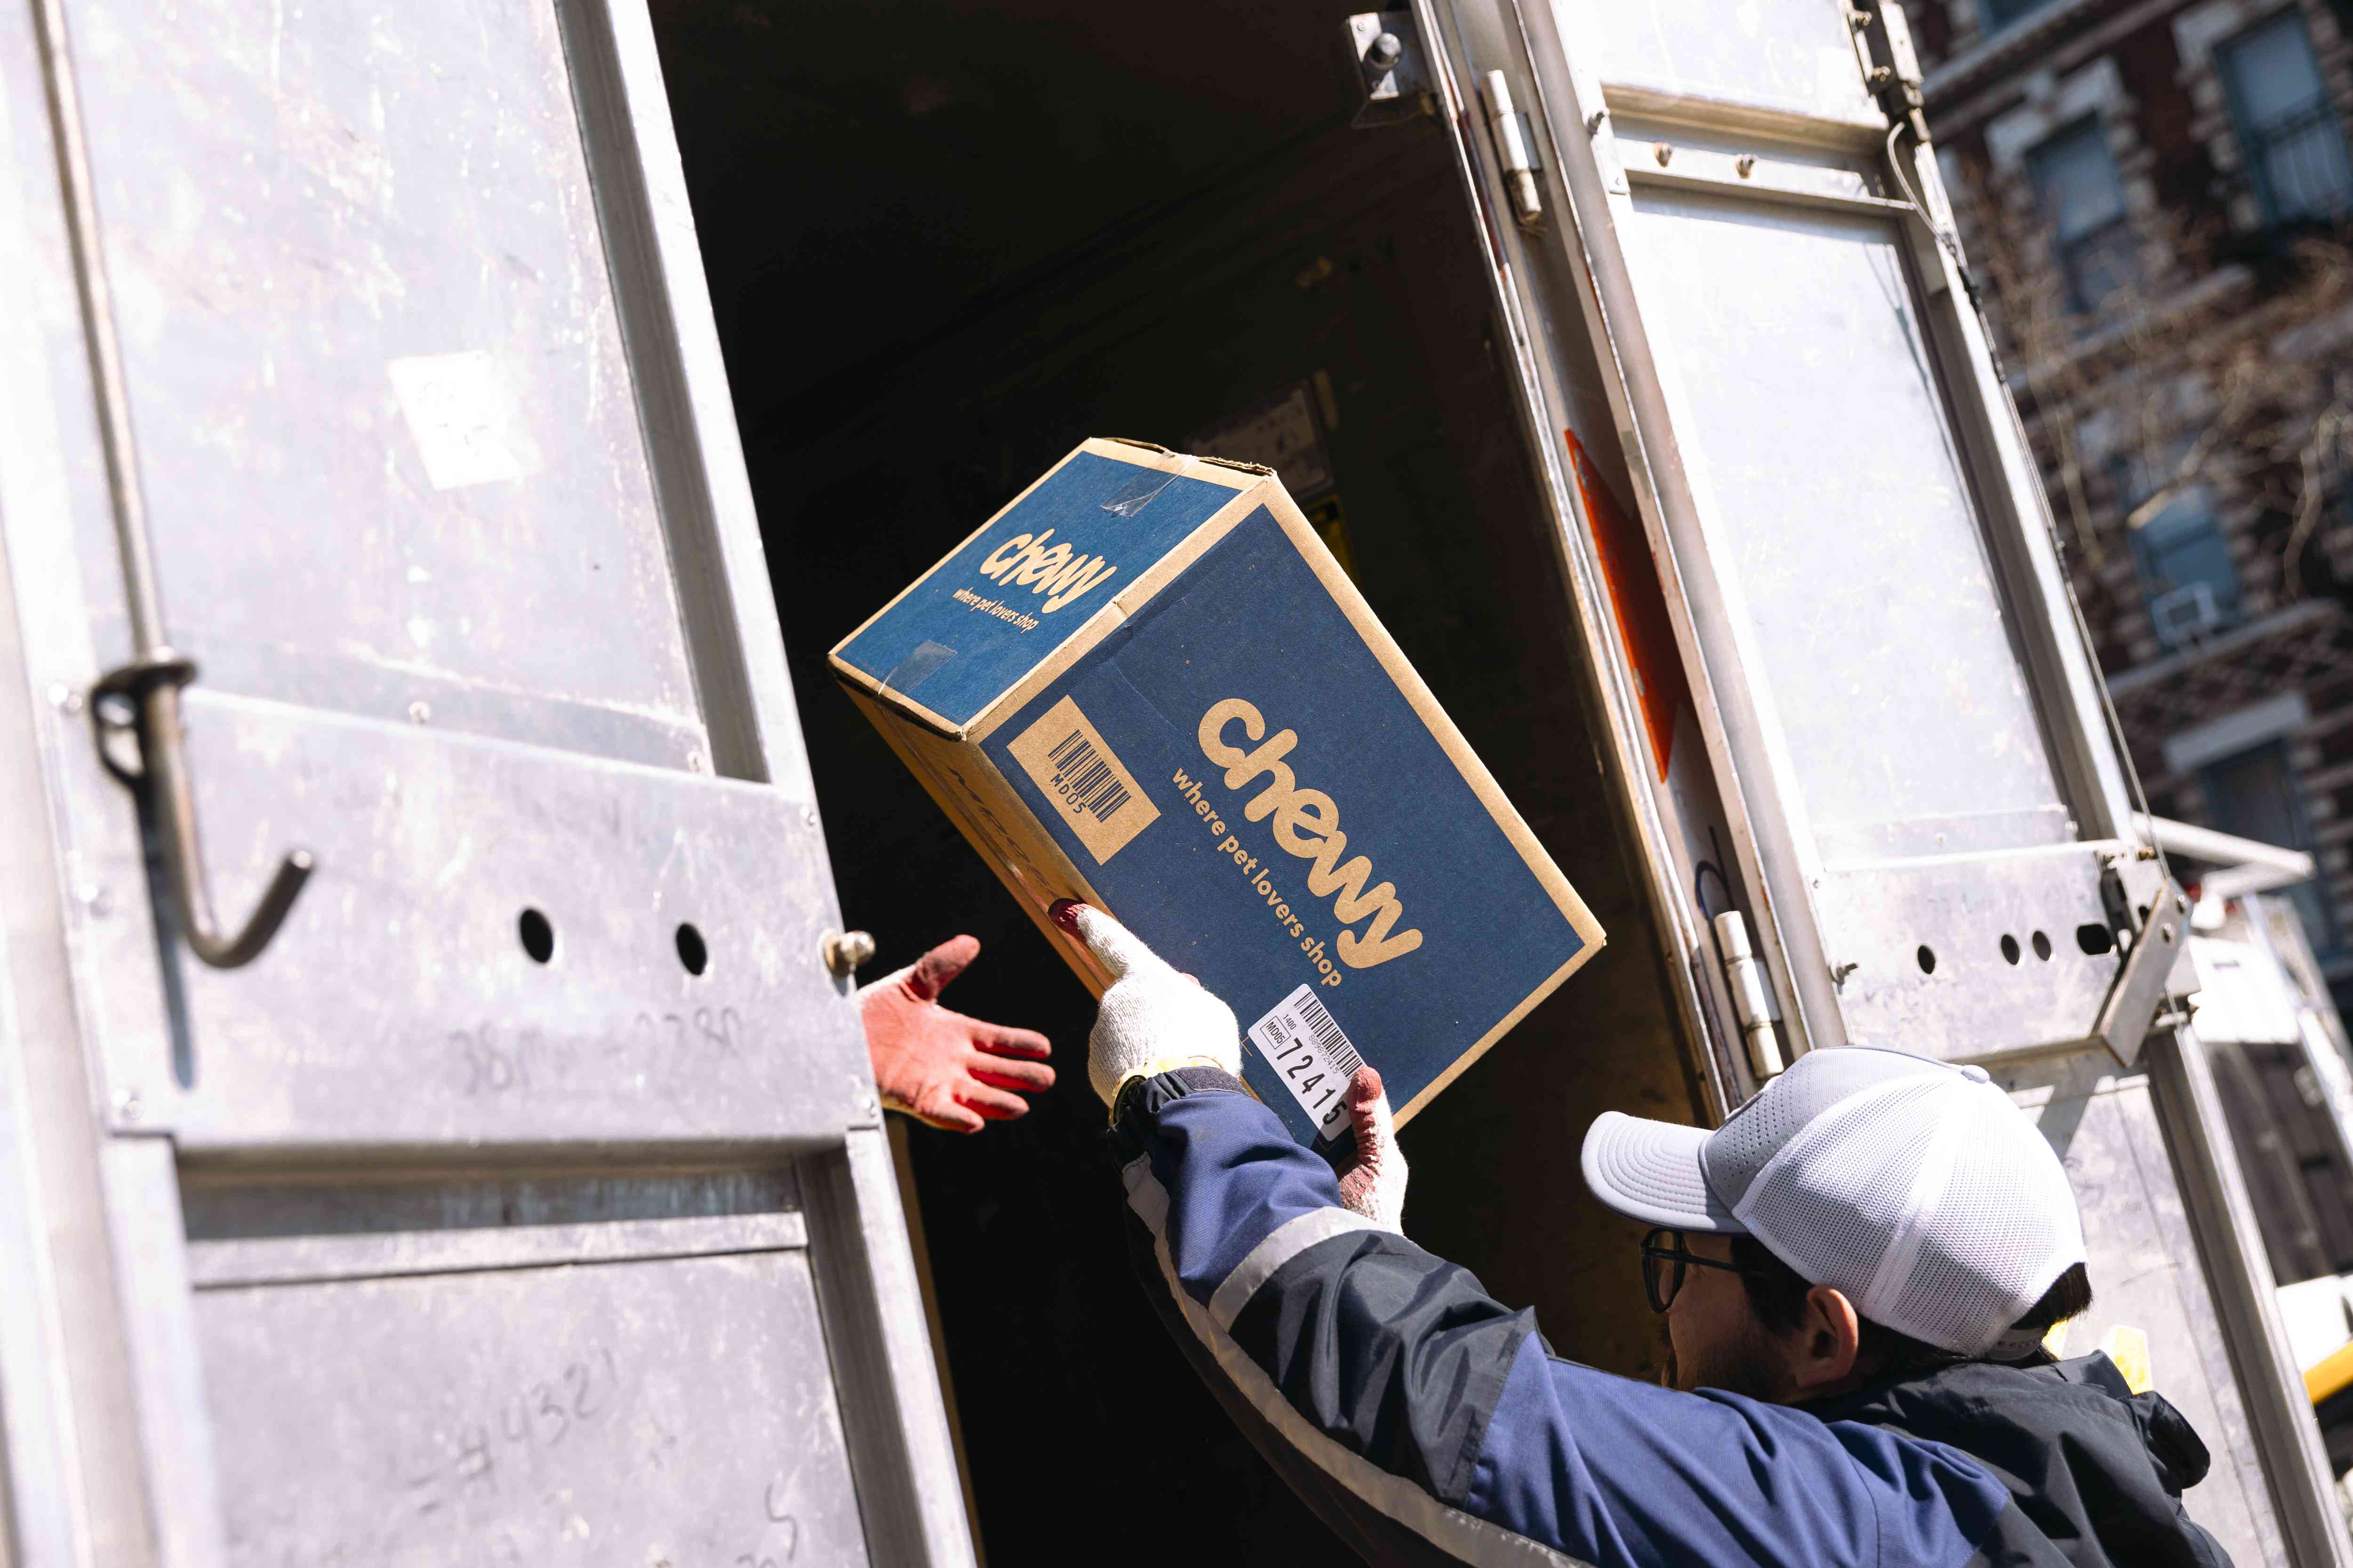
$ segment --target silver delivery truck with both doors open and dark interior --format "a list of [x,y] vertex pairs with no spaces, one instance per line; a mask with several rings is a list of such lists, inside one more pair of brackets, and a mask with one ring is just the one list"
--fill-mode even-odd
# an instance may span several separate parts
[[[1609,931],[1409,1234],[1642,1375],[1593,1114],[1981,1063],[2191,1514],[2348,1561],[1915,75],[1835,0],[12,7],[9,1561],[1059,1561],[1139,1486],[1329,1561],[824,668],[1089,435],[1273,468]],[[1056,1098],[885,1128],[849,924],[986,936]]]

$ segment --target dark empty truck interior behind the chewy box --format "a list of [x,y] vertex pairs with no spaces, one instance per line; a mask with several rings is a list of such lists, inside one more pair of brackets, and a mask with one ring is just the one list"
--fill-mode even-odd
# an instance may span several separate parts
[[1586,1197],[1577,1154],[1602,1110],[1699,1119],[1701,1098],[1445,127],[1351,129],[1341,7],[654,19],[842,912],[880,945],[866,978],[972,931],[946,1001],[1045,1030],[1061,1072],[1021,1121],[904,1145],[981,1549],[1344,1561],[1127,1274],[1087,992],[826,651],[1082,437],[1214,451],[1304,400],[1329,484],[1299,501],[1609,933],[1405,1131],[1407,1234],[1534,1307],[1558,1354],[1657,1375],[1640,1227]]

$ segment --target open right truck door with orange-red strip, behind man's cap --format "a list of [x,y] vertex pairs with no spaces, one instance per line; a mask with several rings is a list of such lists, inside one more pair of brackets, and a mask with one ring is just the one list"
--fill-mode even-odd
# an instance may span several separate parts
[[2193,1514],[2346,1561],[1901,14],[1421,0],[1351,42],[1365,125],[1426,82],[1454,134],[1720,1107],[1809,1048],[1993,1070],[2078,1173],[2075,1347],[2144,1328],[2228,1450]]

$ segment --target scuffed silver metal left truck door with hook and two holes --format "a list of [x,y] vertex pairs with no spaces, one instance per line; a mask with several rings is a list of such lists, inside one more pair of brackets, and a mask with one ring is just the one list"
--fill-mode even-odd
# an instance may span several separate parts
[[0,280],[0,1559],[972,1561],[645,9],[14,7]]

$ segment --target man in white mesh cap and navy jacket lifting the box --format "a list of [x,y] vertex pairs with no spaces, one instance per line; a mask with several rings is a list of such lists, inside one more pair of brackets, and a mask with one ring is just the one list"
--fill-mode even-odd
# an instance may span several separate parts
[[1087,1077],[1146,1288],[1367,1561],[2228,1563],[2181,1509],[2188,1422],[2106,1356],[2042,1352],[2092,1298],[2082,1222],[1984,1070],[1814,1051],[1713,1133],[1602,1114],[1586,1182],[1657,1227],[1654,1387],[1560,1361],[1405,1239],[1369,1067],[1334,1175],[1242,1086],[1224,1001],[1099,910],[1054,919],[1113,978]]

